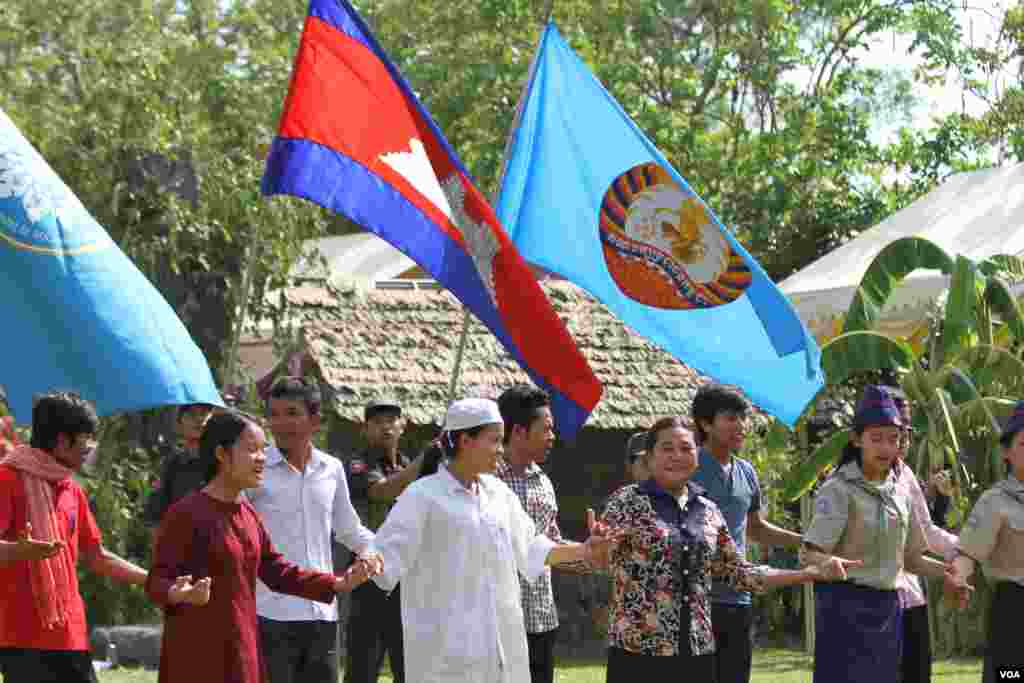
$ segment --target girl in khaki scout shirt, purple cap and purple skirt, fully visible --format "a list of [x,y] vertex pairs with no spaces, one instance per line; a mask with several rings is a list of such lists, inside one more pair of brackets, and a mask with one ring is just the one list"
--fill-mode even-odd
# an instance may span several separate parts
[[921,520],[892,471],[903,429],[892,391],[868,386],[840,466],[815,497],[804,563],[819,563],[822,555],[862,562],[846,582],[815,585],[815,683],[897,680],[900,573],[944,575],[941,562],[923,557],[928,542]]

